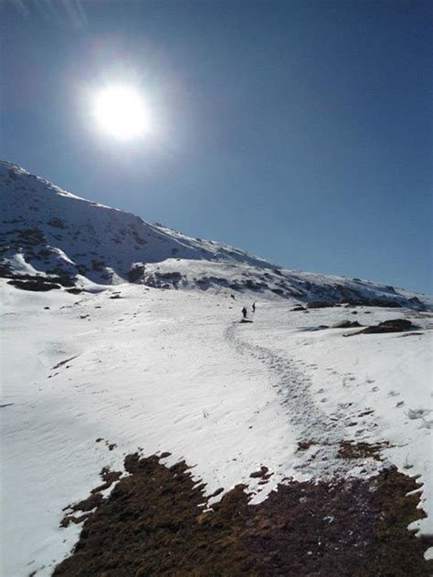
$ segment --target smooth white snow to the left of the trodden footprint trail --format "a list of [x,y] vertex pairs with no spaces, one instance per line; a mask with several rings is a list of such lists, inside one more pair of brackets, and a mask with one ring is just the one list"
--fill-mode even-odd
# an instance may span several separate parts
[[62,509],[138,447],[185,458],[208,494],[254,488],[261,464],[269,491],[290,470],[295,434],[265,367],[224,339],[238,320],[228,295],[2,289],[5,576],[49,575],[79,534],[58,528]]

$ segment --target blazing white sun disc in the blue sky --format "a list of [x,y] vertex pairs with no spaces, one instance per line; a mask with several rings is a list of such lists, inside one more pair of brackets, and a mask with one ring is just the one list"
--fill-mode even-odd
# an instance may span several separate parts
[[149,112],[137,89],[112,86],[101,90],[94,100],[93,114],[103,131],[131,141],[149,130]]

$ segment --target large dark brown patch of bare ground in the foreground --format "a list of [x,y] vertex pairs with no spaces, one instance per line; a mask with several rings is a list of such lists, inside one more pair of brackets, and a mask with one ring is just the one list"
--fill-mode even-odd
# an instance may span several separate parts
[[[433,540],[407,530],[423,516],[418,494],[407,496],[417,482],[394,467],[370,479],[290,480],[258,505],[239,485],[211,509],[184,461],[166,467],[158,456],[135,454],[125,469],[55,577],[428,577],[433,570],[423,557]],[[84,501],[82,510],[93,504]]]

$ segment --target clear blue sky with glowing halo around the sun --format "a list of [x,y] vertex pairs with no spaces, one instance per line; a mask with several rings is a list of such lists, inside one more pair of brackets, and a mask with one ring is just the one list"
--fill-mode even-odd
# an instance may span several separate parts
[[[288,268],[433,292],[432,8],[422,1],[10,0],[0,156]],[[143,142],[97,130],[134,84]]]

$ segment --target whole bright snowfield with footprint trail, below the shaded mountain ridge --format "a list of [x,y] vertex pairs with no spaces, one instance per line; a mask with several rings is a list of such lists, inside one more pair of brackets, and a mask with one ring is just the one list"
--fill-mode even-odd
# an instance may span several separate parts
[[[138,447],[185,458],[208,494],[246,482],[258,500],[283,477],[374,475],[373,460],[336,459],[338,444],[388,441],[385,459],[424,482],[429,517],[417,529],[433,533],[429,313],[304,313],[263,300],[244,324],[251,300],[228,290],[121,285],[74,296],[3,279],[0,289],[5,577],[51,574],[80,530],[59,528],[62,509]],[[396,317],[420,334],[318,330]],[[297,452],[309,440],[316,445]],[[274,473],[265,486],[249,478],[260,465]]]

